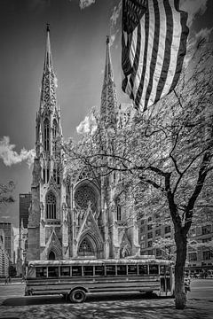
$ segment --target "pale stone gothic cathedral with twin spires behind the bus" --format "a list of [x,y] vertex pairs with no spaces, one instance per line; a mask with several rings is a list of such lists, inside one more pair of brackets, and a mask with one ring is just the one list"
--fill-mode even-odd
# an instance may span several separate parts
[[[64,154],[58,146],[62,128],[55,79],[48,26],[40,107],[36,114],[27,260],[118,259],[139,254],[136,217],[116,203],[109,209],[107,203],[113,198],[114,175],[109,177],[109,183],[104,178],[94,178],[88,167],[77,176],[67,175]],[[119,115],[119,109],[107,38],[102,121],[114,121],[114,117],[122,114]],[[130,222],[124,228],[122,218],[127,215]]]

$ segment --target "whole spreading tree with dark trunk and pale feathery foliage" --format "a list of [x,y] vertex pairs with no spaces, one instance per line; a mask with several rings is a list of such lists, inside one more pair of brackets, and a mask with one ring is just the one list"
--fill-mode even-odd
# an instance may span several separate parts
[[[196,43],[175,91],[136,113],[128,125],[97,121],[94,133],[65,144],[72,171],[89,166],[105,178],[117,172],[114,199],[128,194],[138,218],[170,218],[176,243],[175,302],[185,308],[187,234],[212,188],[212,40]],[[204,205],[206,205],[204,203]]]

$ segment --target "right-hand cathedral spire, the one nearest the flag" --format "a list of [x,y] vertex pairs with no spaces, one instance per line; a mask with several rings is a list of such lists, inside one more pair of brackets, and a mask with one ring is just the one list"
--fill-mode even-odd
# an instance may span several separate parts
[[113,66],[110,55],[109,36],[106,36],[106,64],[101,93],[100,117],[107,127],[114,127],[116,122],[117,97],[114,85]]

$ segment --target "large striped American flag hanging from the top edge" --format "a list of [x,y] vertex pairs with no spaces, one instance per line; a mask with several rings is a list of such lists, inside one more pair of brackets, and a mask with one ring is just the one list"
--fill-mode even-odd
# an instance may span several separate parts
[[122,90],[141,112],[177,84],[186,20],[178,0],[122,0]]

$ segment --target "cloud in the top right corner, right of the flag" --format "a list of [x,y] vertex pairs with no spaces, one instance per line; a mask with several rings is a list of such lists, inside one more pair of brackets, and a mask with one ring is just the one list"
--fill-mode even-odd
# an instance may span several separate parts
[[181,0],[180,9],[188,12],[187,25],[193,24],[193,19],[197,14],[204,14],[207,10],[208,0]]

